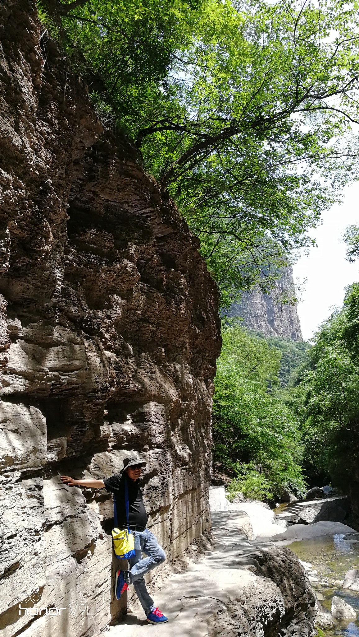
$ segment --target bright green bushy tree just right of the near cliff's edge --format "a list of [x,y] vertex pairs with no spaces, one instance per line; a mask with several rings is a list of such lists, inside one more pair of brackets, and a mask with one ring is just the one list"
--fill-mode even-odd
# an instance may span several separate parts
[[223,333],[213,402],[214,462],[237,474],[244,490],[264,489],[267,496],[305,489],[297,423],[268,392],[269,383],[279,384],[279,361],[278,350],[243,327]]

